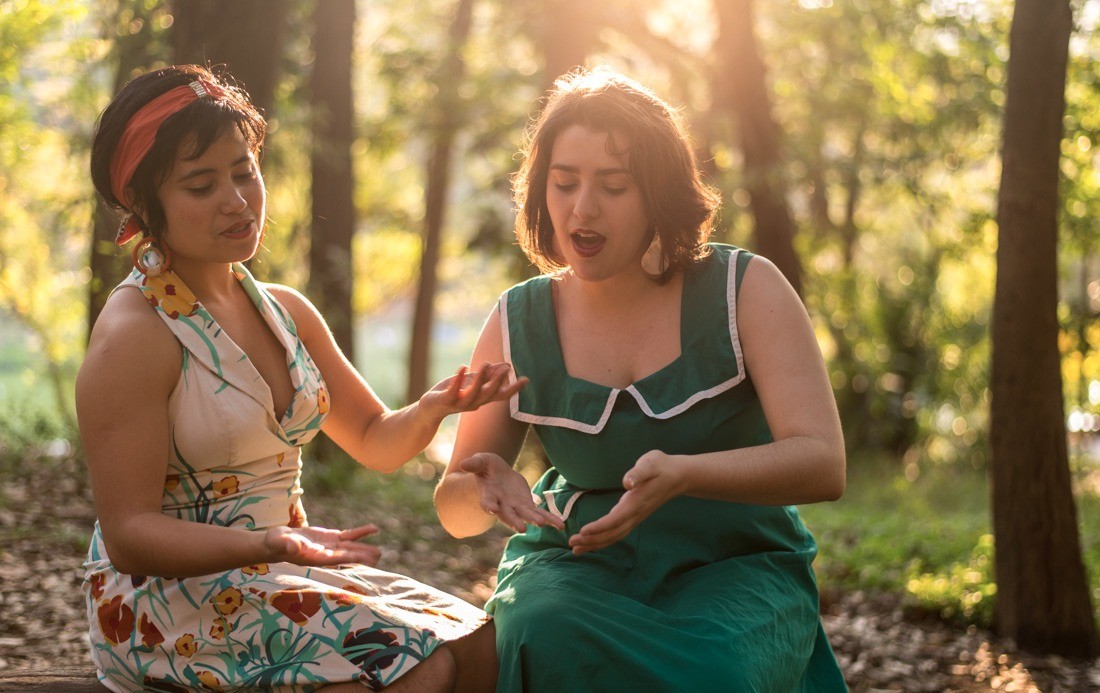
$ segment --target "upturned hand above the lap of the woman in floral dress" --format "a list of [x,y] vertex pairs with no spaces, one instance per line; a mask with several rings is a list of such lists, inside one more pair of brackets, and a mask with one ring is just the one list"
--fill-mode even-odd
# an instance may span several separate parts
[[296,565],[341,565],[362,563],[375,565],[382,556],[378,547],[362,543],[359,539],[377,534],[374,525],[354,529],[326,529],[323,527],[272,527],[264,535],[264,546],[272,553],[272,562]]

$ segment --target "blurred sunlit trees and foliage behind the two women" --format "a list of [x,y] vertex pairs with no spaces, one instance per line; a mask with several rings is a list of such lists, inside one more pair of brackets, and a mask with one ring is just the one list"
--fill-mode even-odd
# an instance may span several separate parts
[[[15,420],[75,439],[72,378],[129,262],[87,150],[133,75],[209,62],[250,88],[271,131],[271,223],[253,271],[308,287],[396,406],[468,359],[495,298],[532,272],[512,238],[524,124],[557,76],[606,63],[683,109],[724,193],[716,240],[801,285],[854,472],[980,476],[1013,10],[0,0],[0,447]],[[1053,318],[1079,491],[1100,458],[1100,2],[1069,11]],[[1026,263],[1026,243],[1018,251]],[[1027,426],[1028,403],[1013,407],[1009,426]]]

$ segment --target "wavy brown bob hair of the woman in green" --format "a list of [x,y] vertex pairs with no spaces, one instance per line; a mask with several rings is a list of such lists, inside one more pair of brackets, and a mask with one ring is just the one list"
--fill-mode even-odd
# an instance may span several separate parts
[[[565,267],[553,250],[547,208],[550,154],[558,135],[572,125],[606,132],[607,152],[626,155],[641,190],[646,216],[661,245],[667,282],[707,254],[721,195],[703,182],[680,113],[637,81],[606,67],[571,72],[554,82],[546,106],[527,131],[524,162],[513,179],[518,208],[516,240],[542,272]],[[622,134],[626,144],[616,142]]]

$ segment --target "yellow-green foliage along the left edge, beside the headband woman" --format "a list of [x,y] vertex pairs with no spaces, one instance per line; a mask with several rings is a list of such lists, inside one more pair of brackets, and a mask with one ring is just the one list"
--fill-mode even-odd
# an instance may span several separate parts
[[33,334],[44,374],[33,387],[50,389],[74,428],[69,389],[87,280],[77,231],[88,228],[90,195],[65,129],[91,111],[69,98],[62,75],[79,73],[87,55],[86,42],[66,36],[86,8],[26,0],[0,10],[0,312]]

